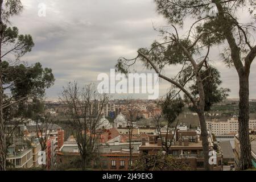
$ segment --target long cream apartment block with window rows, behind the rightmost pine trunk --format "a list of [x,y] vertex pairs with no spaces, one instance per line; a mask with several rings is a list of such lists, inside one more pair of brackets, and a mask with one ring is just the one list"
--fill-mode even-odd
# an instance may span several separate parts
[[[207,129],[212,131],[214,135],[236,134],[238,128],[237,118],[231,118],[228,121],[219,121],[218,119],[207,121]],[[249,129],[256,130],[256,120],[249,121]]]

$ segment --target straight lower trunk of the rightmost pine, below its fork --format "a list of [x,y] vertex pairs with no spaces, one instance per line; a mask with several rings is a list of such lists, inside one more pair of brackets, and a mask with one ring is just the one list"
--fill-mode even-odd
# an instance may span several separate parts
[[239,77],[239,140],[240,140],[240,169],[252,167],[251,143],[249,136],[249,74]]

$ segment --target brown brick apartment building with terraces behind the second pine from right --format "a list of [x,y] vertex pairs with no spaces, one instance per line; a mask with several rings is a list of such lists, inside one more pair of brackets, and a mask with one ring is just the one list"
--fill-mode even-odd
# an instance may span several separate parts
[[[172,138],[172,135],[167,138]],[[197,131],[177,131],[174,142],[169,148],[170,154],[176,156],[177,159],[185,160],[192,170],[204,170],[203,145]],[[208,131],[209,151],[213,149],[212,134]],[[168,142],[168,141],[167,141]],[[149,135],[148,142],[143,139],[139,151],[144,154],[157,154],[163,151],[162,139],[158,134]],[[222,170],[222,154],[217,154],[217,163],[211,166],[212,170]]]

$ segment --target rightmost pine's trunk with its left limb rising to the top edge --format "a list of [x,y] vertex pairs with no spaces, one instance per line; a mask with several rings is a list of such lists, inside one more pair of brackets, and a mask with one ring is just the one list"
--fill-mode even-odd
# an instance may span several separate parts
[[250,67],[245,68],[240,58],[240,48],[232,34],[232,26],[225,18],[224,9],[220,1],[214,1],[217,6],[219,18],[222,20],[222,30],[231,49],[231,57],[239,76],[239,139],[240,139],[240,169],[252,167],[251,144],[249,136],[249,74]]

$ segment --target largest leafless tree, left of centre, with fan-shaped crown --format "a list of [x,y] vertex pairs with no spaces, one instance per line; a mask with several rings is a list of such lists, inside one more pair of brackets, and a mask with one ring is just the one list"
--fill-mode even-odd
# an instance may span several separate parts
[[82,169],[85,170],[96,150],[96,130],[101,125],[102,111],[108,104],[109,97],[107,94],[98,93],[94,84],[79,88],[77,82],[74,82],[64,88],[60,101],[68,106],[73,134],[81,155]]

